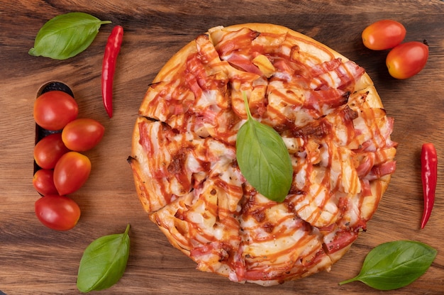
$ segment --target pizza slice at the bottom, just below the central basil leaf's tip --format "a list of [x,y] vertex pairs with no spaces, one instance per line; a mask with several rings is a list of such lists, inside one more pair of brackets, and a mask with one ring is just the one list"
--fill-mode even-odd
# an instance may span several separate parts
[[[258,212],[262,216],[259,221]],[[285,204],[252,196],[244,207],[240,226],[244,235],[235,268],[238,281],[280,280],[296,269],[329,267],[318,236],[307,235],[307,223],[295,219]],[[299,253],[301,249],[305,249],[303,253]]]

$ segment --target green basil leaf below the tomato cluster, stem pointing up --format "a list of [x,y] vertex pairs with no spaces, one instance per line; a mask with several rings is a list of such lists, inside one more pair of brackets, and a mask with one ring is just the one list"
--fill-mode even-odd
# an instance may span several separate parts
[[116,284],[123,276],[130,252],[130,238],[125,233],[105,235],[94,240],[84,251],[77,274],[77,289],[99,291]]

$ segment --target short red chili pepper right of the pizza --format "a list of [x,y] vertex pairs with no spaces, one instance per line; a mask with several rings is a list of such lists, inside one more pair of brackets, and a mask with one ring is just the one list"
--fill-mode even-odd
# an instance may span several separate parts
[[421,150],[421,180],[423,182],[424,211],[421,228],[426,226],[435,204],[435,189],[438,177],[438,156],[433,143],[424,143]]

